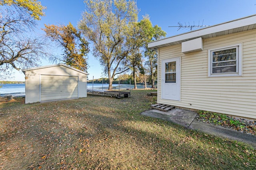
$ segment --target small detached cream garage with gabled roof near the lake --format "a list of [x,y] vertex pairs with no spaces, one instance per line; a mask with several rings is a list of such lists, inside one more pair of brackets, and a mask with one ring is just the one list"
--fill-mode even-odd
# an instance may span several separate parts
[[22,70],[25,74],[25,103],[87,97],[87,73],[65,64]]

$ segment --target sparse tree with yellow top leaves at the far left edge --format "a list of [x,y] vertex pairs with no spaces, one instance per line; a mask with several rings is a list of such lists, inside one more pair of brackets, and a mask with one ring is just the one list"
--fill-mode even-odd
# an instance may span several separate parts
[[37,0],[0,0],[0,70],[20,70],[37,66],[46,55],[45,41],[27,32],[44,16],[44,6]]

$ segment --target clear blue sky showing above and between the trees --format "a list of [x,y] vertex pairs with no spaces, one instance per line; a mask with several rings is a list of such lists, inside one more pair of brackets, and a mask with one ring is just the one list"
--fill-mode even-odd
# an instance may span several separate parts
[[[64,24],[71,22],[74,26],[80,21],[84,11],[83,0],[40,0],[46,6],[45,15],[38,21],[37,34],[44,34],[41,28],[45,24]],[[137,7],[140,9],[139,20],[148,14],[153,25],[162,27],[170,37],[190,31],[176,27],[178,25],[215,25],[218,23],[235,20],[245,16],[256,14],[256,0],[137,0]],[[56,52],[60,54],[60,52]],[[88,55],[89,79],[102,77],[102,68],[99,62],[91,53]],[[42,61],[41,66],[52,64]],[[11,80],[24,81],[24,74],[14,70],[14,78]],[[106,77],[106,76],[104,76]]]

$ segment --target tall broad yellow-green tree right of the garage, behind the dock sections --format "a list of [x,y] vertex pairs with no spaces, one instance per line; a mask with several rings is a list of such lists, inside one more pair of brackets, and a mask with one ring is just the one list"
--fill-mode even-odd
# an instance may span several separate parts
[[109,90],[117,74],[129,70],[125,45],[128,25],[137,21],[134,0],[85,0],[86,10],[79,28],[93,43],[93,55],[108,74]]

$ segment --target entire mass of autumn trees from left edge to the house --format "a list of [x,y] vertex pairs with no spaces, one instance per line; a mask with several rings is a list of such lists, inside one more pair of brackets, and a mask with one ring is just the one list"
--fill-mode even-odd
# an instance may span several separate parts
[[[86,72],[88,53],[92,51],[108,76],[109,90],[116,76],[128,72],[132,73],[134,88],[137,88],[137,77],[142,77],[140,82],[149,79],[154,87],[157,53],[148,49],[147,43],[165,37],[166,32],[158,25],[153,26],[148,15],[138,21],[135,0],[85,0],[84,3],[85,11],[78,27],[71,23],[45,24],[45,37],[28,37],[26,33],[34,30],[46,7],[38,0],[0,0],[1,72],[38,66],[42,58]],[[62,48],[62,54],[48,53],[47,47],[52,46],[49,42]]]

